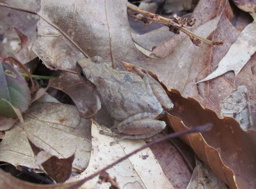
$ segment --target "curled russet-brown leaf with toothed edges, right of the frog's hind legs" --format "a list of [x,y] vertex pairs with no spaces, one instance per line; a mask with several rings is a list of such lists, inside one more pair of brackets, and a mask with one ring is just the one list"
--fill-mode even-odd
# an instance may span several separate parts
[[233,118],[219,118],[195,99],[184,98],[177,90],[168,92],[174,103],[168,121],[175,131],[205,123],[214,127],[202,134],[181,137],[201,160],[209,165],[230,189],[256,187],[256,131],[243,131]]

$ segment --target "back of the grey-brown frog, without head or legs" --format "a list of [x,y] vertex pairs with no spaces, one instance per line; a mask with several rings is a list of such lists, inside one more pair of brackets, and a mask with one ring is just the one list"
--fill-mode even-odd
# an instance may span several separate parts
[[111,117],[120,122],[138,113],[162,111],[143,79],[127,71],[114,71],[98,83],[97,90]]

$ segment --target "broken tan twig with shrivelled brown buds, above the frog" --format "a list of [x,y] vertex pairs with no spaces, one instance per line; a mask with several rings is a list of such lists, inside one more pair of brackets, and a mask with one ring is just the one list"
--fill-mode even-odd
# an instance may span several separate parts
[[[195,19],[187,20],[187,18],[186,18],[184,20],[181,20],[181,18],[179,16],[175,16],[176,17],[175,19],[167,19],[167,18],[159,16],[157,14],[144,11],[143,9],[140,9],[140,8],[131,7],[129,5],[127,5],[127,9],[137,12],[137,13],[140,13],[139,15],[132,15],[132,14],[128,13],[128,16],[135,17],[137,20],[141,20],[144,23],[147,23],[147,22],[149,23],[150,21],[153,21],[153,22],[157,22],[160,24],[164,24],[165,26],[167,26],[169,28],[170,31],[174,32],[174,34],[179,34],[178,30],[181,30],[182,32],[184,32],[185,34],[187,34],[189,36],[189,38],[192,40],[192,42],[196,46],[200,46],[200,43],[198,43],[199,40],[204,43],[207,43],[211,46],[223,44],[222,41],[211,41],[211,40],[205,39],[199,35],[196,35],[193,32],[186,29],[185,26],[186,25],[192,26]],[[145,16],[143,16],[143,15],[145,15]],[[174,28],[176,28],[176,30]]]

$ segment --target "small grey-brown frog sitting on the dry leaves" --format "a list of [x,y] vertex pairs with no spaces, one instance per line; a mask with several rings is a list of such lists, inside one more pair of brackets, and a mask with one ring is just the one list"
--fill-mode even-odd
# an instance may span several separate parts
[[[76,62],[79,77],[94,84],[98,94],[97,107],[101,103],[118,125],[118,140],[123,138],[147,138],[159,133],[166,126],[163,117],[172,109],[165,90],[147,72],[133,67],[139,75],[114,70],[100,56],[82,58]],[[161,102],[161,103],[160,103]],[[163,106],[163,107],[162,107]]]

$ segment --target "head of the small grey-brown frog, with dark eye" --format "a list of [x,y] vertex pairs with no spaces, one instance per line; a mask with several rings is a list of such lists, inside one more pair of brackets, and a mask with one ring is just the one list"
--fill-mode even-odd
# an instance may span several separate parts
[[102,63],[104,63],[104,60],[100,56],[81,58],[76,61],[77,74],[82,80],[91,80],[99,72]]

